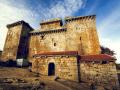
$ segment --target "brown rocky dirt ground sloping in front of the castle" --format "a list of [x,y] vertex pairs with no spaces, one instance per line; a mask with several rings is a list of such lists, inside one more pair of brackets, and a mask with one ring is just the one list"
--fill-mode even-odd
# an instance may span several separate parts
[[15,67],[0,67],[0,85],[5,90],[89,90],[79,83],[54,81],[54,77],[38,77],[27,68]]

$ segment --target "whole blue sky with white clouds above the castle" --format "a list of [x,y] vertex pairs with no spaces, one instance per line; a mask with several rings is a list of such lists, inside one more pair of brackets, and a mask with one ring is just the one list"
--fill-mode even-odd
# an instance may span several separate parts
[[6,24],[25,20],[39,29],[41,20],[66,16],[97,15],[101,45],[116,52],[120,63],[120,0],[0,0],[0,49],[3,49]]

